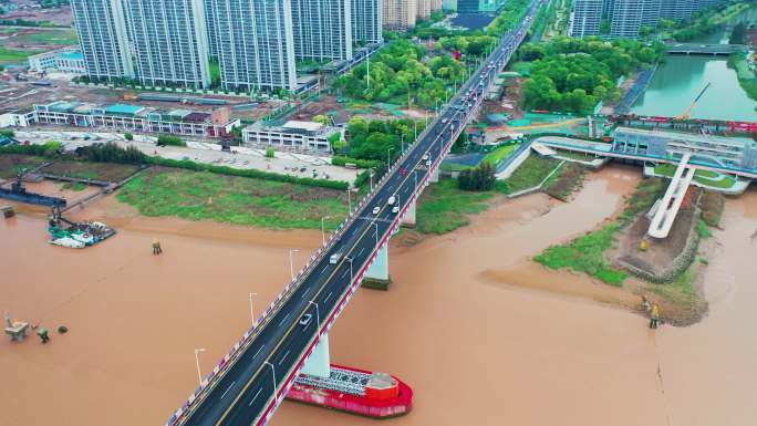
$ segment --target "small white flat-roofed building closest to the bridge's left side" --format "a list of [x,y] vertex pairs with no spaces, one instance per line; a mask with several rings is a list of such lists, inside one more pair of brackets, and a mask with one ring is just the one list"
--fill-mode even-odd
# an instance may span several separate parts
[[242,129],[242,141],[251,147],[331,153],[331,143],[341,138],[341,133],[339,127],[313,122],[289,121],[281,126],[256,123]]

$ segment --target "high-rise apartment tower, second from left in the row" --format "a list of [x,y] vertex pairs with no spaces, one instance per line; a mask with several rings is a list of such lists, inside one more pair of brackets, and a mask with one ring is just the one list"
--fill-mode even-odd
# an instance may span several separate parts
[[136,77],[144,85],[210,85],[203,0],[123,3]]

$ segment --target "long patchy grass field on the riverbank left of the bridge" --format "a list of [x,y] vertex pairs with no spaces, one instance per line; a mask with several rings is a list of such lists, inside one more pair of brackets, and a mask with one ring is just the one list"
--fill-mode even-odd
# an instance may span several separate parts
[[132,179],[118,200],[145,216],[177,216],[274,229],[334,229],[346,216],[346,196],[334,189],[212,173],[151,169]]

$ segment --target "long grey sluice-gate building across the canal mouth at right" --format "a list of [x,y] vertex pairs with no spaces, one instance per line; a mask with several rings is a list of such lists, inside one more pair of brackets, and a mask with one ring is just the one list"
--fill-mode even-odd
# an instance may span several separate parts
[[612,150],[660,159],[675,159],[691,153],[692,164],[757,172],[757,142],[747,138],[619,127],[613,135]]

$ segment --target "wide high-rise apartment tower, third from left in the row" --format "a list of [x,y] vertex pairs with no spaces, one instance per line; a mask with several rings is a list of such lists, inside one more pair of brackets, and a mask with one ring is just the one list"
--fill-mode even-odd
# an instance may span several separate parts
[[291,0],[211,0],[224,89],[297,90]]

